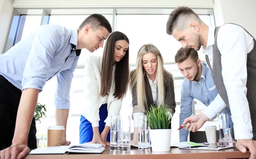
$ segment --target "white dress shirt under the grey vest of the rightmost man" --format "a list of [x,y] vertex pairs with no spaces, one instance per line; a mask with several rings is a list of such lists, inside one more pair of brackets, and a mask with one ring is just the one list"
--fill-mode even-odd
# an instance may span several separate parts
[[[212,49],[214,45],[215,28],[209,27],[207,48],[212,66]],[[247,54],[253,49],[253,37],[243,28],[234,24],[225,24],[218,30],[218,49],[221,53],[222,77],[227,90],[230,111],[234,123],[235,139],[252,139],[252,124],[250,110],[246,98],[247,88]],[[208,66],[209,67],[209,66]],[[202,111],[209,119],[225,108],[225,103],[218,94],[212,103]]]

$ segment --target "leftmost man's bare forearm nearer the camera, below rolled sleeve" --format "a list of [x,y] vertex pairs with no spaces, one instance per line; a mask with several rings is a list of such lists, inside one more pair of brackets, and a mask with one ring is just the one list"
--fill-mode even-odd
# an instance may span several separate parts
[[29,129],[32,117],[35,113],[38,94],[38,89],[27,88],[23,90],[17,112],[15,133],[12,140],[13,144],[19,142],[23,145],[27,145]]

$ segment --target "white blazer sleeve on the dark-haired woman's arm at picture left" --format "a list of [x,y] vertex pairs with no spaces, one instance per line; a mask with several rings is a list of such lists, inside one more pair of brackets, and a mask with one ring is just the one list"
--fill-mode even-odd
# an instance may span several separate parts
[[92,127],[99,127],[99,89],[91,57],[86,59],[84,72],[86,98],[84,117],[90,121]]

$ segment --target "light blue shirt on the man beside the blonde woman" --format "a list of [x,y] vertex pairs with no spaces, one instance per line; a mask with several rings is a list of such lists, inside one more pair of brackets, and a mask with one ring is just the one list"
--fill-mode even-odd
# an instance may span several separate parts
[[[201,65],[202,74],[199,82],[190,82],[186,78],[182,83],[180,100],[180,125],[183,124],[184,119],[192,115],[192,102],[194,98],[208,106],[218,95],[211,70],[207,67],[205,62],[202,62]],[[230,126],[233,129],[230,109],[226,108],[222,113],[230,114]],[[180,129],[180,142],[187,141],[188,134],[189,131],[185,130],[184,128]]]

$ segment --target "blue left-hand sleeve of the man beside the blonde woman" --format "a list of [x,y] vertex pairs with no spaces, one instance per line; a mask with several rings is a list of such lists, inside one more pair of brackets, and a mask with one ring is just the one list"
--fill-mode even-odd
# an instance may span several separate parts
[[[183,124],[184,119],[192,115],[193,99],[194,98],[189,93],[189,90],[187,90],[185,86],[182,84],[181,97],[180,97],[180,125]],[[188,134],[189,134],[189,131],[187,131],[186,129],[180,129],[179,131],[180,142],[187,141]]]

